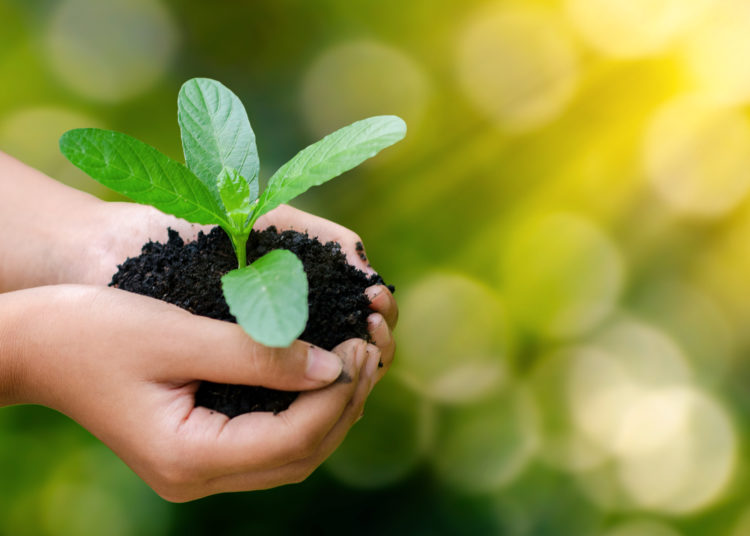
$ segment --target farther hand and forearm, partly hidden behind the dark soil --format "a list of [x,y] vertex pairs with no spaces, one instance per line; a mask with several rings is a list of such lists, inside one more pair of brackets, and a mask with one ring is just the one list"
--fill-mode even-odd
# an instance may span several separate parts
[[[264,215],[259,227],[268,225],[335,240],[350,263],[372,273],[359,255],[364,250],[357,251],[359,237],[345,227],[288,206]],[[63,283],[106,285],[117,265],[138,255],[148,240],[165,241],[167,227],[185,240],[207,230],[145,205],[104,203],[0,152],[0,292]],[[370,334],[383,354],[382,376],[393,359],[391,330],[398,309],[385,287],[367,294],[374,311]]]

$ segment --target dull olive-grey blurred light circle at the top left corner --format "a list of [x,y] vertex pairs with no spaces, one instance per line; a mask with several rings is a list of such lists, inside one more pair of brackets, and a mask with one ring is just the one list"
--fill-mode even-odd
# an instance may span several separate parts
[[63,0],[46,35],[60,81],[107,102],[153,86],[169,68],[177,42],[176,24],[158,0]]

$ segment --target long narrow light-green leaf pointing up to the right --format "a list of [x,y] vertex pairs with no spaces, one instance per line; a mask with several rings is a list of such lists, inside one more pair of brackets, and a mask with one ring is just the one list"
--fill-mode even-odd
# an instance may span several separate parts
[[394,115],[363,119],[329,134],[273,174],[253,219],[358,166],[405,135],[406,123]]

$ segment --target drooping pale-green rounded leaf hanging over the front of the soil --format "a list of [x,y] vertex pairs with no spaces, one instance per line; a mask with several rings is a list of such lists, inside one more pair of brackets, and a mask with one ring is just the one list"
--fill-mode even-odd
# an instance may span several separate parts
[[307,276],[291,251],[277,249],[221,278],[237,323],[266,346],[289,346],[307,324]]

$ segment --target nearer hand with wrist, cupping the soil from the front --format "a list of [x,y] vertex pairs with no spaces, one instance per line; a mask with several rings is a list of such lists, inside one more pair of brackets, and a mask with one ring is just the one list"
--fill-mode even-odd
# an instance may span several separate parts
[[[307,477],[361,415],[380,360],[358,339],[269,349],[236,324],[106,287],[2,294],[0,326],[0,403],[65,413],[171,501]],[[229,419],[194,407],[199,380],[303,393],[278,415]]]

